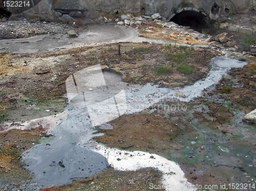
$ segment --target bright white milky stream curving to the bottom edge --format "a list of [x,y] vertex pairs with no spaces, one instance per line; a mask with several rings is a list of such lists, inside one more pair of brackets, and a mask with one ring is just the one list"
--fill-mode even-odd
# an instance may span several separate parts
[[[185,178],[179,164],[156,154],[142,151],[127,152],[98,145],[93,149],[108,159],[109,164],[119,171],[136,171],[141,168],[155,168],[163,173],[162,184],[166,190],[192,191],[193,184]],[[152,156],[154,158],[152,158]],[[150,185],[148,185],[150,188]]]

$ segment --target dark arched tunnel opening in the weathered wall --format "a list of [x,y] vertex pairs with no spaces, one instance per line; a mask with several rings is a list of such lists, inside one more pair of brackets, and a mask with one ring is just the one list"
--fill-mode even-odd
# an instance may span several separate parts
[[180,26],[190,27],[190,29],[200,33],[203,28],[209,26],[207,17],[197,11],[182,11],[173,16],[169,21],[173,21]]

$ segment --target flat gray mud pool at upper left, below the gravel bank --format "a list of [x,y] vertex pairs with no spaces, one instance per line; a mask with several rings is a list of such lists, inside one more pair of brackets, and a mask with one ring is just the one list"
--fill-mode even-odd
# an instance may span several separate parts
[[6,53],[53,52],[73,47],[129,41],[136,37],[133,29],[123,26],[94,25],[80,32],[77,38],[67,34],[40,35],[23,39],[0,40],[1,51]]

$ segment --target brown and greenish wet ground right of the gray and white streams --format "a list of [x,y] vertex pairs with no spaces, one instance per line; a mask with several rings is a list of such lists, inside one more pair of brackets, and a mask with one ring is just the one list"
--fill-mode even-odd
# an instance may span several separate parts
[[254,63],[232,68],[193,101],[163,99],[122,115],[95,140],[176,161],[193,184],[255,185],[256,126],[242,121],[256,107],[254,69]]

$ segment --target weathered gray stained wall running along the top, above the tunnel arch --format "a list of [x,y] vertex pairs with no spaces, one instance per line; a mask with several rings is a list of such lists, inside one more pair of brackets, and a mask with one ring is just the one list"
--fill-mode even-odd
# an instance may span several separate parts
[[256,9],[255,0],[41,0],[32,8],[11,8],[13,18],[29,17],[54,21],[82,18],[94,20],[99,16],[119,17],[123,13],[161,16],[171,19],[182,11],[196,11],[211,20],[230,16],[246,9]]

